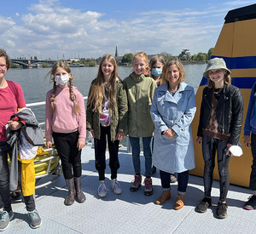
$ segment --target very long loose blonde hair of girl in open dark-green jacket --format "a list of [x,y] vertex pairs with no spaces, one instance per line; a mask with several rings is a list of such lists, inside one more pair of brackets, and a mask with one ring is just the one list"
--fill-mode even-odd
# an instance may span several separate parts
[[100,113],[102,113],[102,104],[105,94],[105,79],[104,74],[102,72],[102,63],[105,60],[108,60],[108,62],[110,62],[113,65],[113,71],[109,79],[110,86],[108,88],[108,108],[110,110],[110,115],[112,115],[112,111],[114,111],[115,114],[117,113],[115,89],[116,80],[117,78],[119,79],[119,74],[116,60],[113,58],[111,54],[106,54],[102,58],[97,77],[91,83],[90,94],[87,101],[87,108],[93,107],[93,111],[99,111]]

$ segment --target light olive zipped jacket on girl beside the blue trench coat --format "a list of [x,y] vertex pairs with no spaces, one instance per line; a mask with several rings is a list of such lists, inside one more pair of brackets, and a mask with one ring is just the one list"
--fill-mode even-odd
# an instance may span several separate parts
[[128,100],[128,134],[131,137],[150,137],[154,132],[154,123],[150,116],[150,107],[157,87],[154,79],[138,76],[134,72],[123,81]]

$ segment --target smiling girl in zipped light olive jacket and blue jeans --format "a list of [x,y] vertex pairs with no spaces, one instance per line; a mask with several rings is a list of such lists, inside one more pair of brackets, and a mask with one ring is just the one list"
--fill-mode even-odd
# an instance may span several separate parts
[[145,157],[144,194],[152,195],[151,180],[152,154],[150,142],[152,140],[154,123],[150,116],[150,107],[157,84],[151,77],[145,77],[149,71],[148,56],[144,52],[134,55],[133,72],[124,80],[124,88],[128,100],[128,134],[131,142],[132,162],[135,171],[131,183],[131,191],[137,191],[142,183],[140,161],[140,138],[143,139],[143,154]]

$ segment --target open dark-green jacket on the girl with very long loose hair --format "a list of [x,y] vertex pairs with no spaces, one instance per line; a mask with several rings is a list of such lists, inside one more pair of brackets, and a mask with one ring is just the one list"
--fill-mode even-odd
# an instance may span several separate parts
[[[93,84],[95,80],[92,81]],[[91,85],[88,96],[90,96],[91,92]],[[118,132],[125,132],[127,134],[127,114],[128,114],[128,107],[127,107],[127,98],[125,95],[125,91],[123,89],[123,84],[121,80],[117,80],[116,83],[116,105],[118,110],[118,115],[111,112],[111,123],[110,123],[110,134],[111,134],[111,141],[116,140],[116,136]],[[97,109],[93,111],[94,106],[87,106],[86,110],[86,128],[92,129],[95,134],[96,139],[100,139],[101,137],[101,123],[100,123],[100,112]]]

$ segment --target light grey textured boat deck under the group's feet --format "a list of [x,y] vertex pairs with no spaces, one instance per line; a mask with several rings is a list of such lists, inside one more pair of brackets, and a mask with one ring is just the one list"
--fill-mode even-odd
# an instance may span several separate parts
[[[28,225],[24,203],[16,202],[13,205],[15,218],[4,233],[255,233],[256,210],[242,209],[244,201],[251,195],[251,191],[245,188],[230,185],[228,218],[225,220],[216,218],[218,181],[213,183],[212,208],[206,214],[195,212],[195,206],[203,197],[203,181],[196,176],[189,176],[184,208],[178,211],[173,209],[177,183],[171,185],[171,200],[164,205],[155,205],[155,199],[161,194],[159,171],[153,177],[152,196],[143,195],[143,186],[139,191],[131,192],[131,154],[120,149],[118,180],[123,193],[115,195],[109,190],[107,197],[99,198],[96,194],[99,183],[94,149],[86,146],[83,155],[82,186],[87,198],[85,203],[75,202],[68,207],[64,205],[67,186],[61,176],[53,184],[36,191],[37,209],[43,221],[41,227],[32,230]],[[109,172],[107,168],[106,182],[110,189]]]

